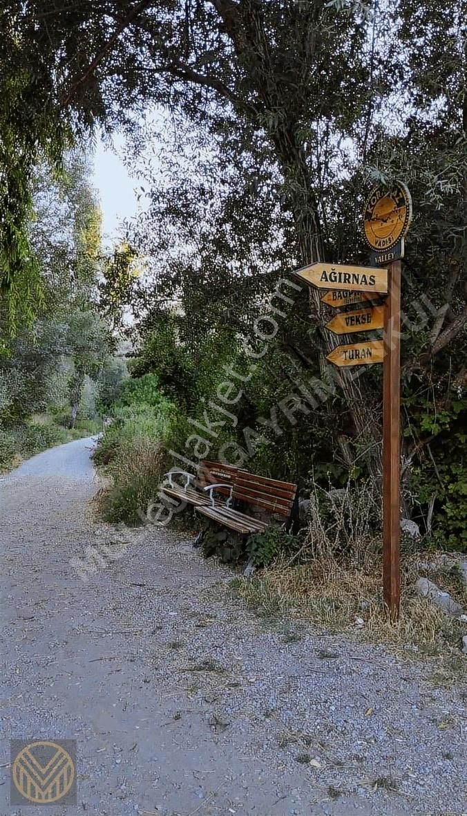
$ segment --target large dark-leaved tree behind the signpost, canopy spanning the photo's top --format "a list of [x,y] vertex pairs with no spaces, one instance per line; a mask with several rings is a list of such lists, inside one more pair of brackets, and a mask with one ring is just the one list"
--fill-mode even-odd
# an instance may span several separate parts
[[[402,175],[416,194],[417,212],[404,295],[412,299],[429,291],[443,309],[425,332],[415,337],[409,330],[404,366],[417,381],[414,392],[426,392],[433,372],[435,378],[442,372],[443,399],[451,399],[447,372],[467,321],[461,304],[465,39],[456,7],[444,13],[433,4],[421,8],[399,0],[389,12],[373,13],[366,2],[341,0],[98,0],[92,9],[85,2],[53,10],[43,2],[10,2],[7,8],[15,26],[7,24],[2,47],[12,52],[14,66],[26,66],[16,84],[8,84],[9,68],[4,74],[12,121],[24,131],[18,153],[23,163],[12,155],[5,163],[11,167],[2,242],[4,268],[12,270],[8,286],[17,271],[11,224],[19,234],[36,145],[45,150],[50,142],[58,161],[65,137],[97,122],[124,125],[134,136],[126,111],[149,101],[169,112],[178,138],[169,157],[174,183],[156,180],[153,247],[164,254],[157,290],[140,287],[139,303],[152,311],[143,330],[150,330],[161,308],[173,305],[175,295],[186,315],[178,320],[183,339],[191,322],[228,342],[244,330],[245,304],[254,311],[271,290],[273,275],[263,275],[265,270],[286,271],[316,259],[365,262],[357,226],[365,185]],[[41,54],[38,68],[26,53],[32,42]],[[2,118],[0,134],[11,154],[8,122]],[[212,160],[205,184],[186,177],[192,166],[183,166],[178,154],[187,144],[194,165]],[[447,266],[449,272],[440,275],[438,269]],[[241,306],[235,308],[240,291]],[[326,353],[336,343],[325,329],[327,319],[315,293],[309,303],[297,304],[282,326],[281,359],[289,354],[297,365],[324,375]],[[286,376],[287,366],[277,375]],[[460,375],[456,371],[456,382]],[[378,477],[377,374],[369,372],[359,383],[339,373],[337,378],[343,398],[339,410],[328,406],[327,421],[341,459],[350,468],[358,456]],[[413,445],[417,450],[418,441]]]

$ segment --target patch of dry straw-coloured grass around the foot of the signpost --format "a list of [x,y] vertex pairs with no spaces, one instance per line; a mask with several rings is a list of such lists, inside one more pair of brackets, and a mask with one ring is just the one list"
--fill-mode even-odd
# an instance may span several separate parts
[[[359,561],[359,565],[355,565]],[[421,574],[419,559],[403,559],[402,601],[399,621],[392,623],[382,601],[381,556],[374,552],[339,560],[327,555],[302,565],[276,563],[252,579],[236,579],[236,592],[263,615],[307,619],[328,632],[353,632],[365,641],[388,645],[404,658],[442,657],[433,677],[449,685],[465,673],[467,660],[460,653],[463,631],[432,602],[416,596],[413,585]],[[432,577],[432,574],[430,574]],[[449,570],[436,573],[438,586],[453,590]],[[456,600],[462,602],[460,592]],[[465,600],[465,597],[464,597]],[[355,619],[363,619],[363,626]]]

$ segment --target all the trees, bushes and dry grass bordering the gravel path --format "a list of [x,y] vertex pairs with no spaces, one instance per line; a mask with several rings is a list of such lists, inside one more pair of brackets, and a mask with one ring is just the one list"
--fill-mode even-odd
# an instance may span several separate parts
[[[292,599],[351,626],[363,600],[367,630],[384,628],[381,366],[328,365],[333,310],[292,273],[368,264],[368,189],[401,180],[414,209],[401,383],[412,534],[394,638],[418,627],[454,648],[457,624],[411,586],[416,559],[467,552],[460,7],[48,5],[7,2],[15,24],[0,41],[0,462],[105,415],[108,521],[138,523],[165,470],[205,458],[297,482],[297,537],[224,535],[206,552],[270,565],[241,583],[266,608]],[[106,255],[83,149],[115,130],[145,205]]]

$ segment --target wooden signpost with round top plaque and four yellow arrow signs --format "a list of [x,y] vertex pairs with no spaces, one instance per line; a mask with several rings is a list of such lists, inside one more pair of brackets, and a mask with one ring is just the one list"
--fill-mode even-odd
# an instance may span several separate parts
[[[390,190],[375,187],[363,211],[363,233],[375,265],[316,263],[295,273],[311,286],[328,290],[321,297],[325,304],[360,306],[337,313],[328,330],[346,335],[383,329],[383,339],[338,345],[327,359],[339,367],[383,363],[383,595],[391,619],[397,619],[400,603],[400,259],[411,220],[412,200],[405,184]],[[364,301],[386,292],[382,306],[364,308]]]

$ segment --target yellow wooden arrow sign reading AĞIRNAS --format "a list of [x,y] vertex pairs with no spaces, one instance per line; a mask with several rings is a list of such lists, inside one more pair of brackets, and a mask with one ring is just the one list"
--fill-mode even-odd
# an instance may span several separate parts
[[318,289],[350,289],[363,292],[387,292],[387,269],[376,266],[311,264],[295,273]]

